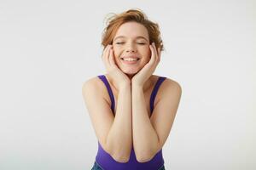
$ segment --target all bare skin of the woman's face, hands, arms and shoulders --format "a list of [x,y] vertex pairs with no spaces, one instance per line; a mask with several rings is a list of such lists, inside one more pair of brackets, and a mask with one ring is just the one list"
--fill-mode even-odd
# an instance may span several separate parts
[[[115,39],[119,36],[124,37]],[[120,57],[126,54],[136,54],[141,59],[137,65],[125,65]],[[156,95],[150,116],[149,98],[158,79],[152,74],[160,62],[160,48],[156,49],[154,43],[149,44],[147,29],[136,22],[119,27],[113,45],[104,49],[102,60],[116,101],[114,116],[108,91],[101,80],[92,78],[83,86],[85,105],[97,139],[115,161],[129,161],[132,146],[137,161],[149,161],[163,147],[171,131],[181,87],[166,78]]]

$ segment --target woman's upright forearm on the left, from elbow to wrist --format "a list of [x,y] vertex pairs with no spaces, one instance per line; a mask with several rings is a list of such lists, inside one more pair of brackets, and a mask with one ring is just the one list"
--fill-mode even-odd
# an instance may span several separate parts
[[[113,157],[127,162],[131,155],[131,86],[119,89],[117,111],[107,141]],[[111,151],[112,150],[112,151]]]

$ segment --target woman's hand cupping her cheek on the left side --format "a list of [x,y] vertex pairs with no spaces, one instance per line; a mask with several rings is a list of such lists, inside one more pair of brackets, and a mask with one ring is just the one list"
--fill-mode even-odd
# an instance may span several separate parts
[[113,54],[113,45],[108,45],[102,54],[102,59],[104,65],[107,68],[108,76],[117,84],[117,88],[121,88],[124,85],[131,84],[131,80],[129,77],[125,75],[123,71],[119,69],[119,67],[115,64],[114,54]]

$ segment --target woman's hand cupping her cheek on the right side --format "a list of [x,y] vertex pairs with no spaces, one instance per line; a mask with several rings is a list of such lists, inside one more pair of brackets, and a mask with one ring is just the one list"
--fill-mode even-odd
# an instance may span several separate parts
[[151,59],[146,65],[144,65],[141,71],[137,72],[137,74],[134,77],[132,77],[132,85],[143,87],[144,83],[153,74],[156,66],[160,62],[160,48],[156,50],[154,42],[152,44],[153,45],[149,45],[149,48],[151,50]]

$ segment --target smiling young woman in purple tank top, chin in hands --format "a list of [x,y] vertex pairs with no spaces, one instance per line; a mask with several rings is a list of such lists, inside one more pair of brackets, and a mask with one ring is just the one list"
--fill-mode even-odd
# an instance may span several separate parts
[[115,14],[102,45],[107,73],[82,88],[98,139],[92,169],[165,169],[162,147],[182,89],[170,78],[153,75],[163,49],[158,24],[139,9]]

